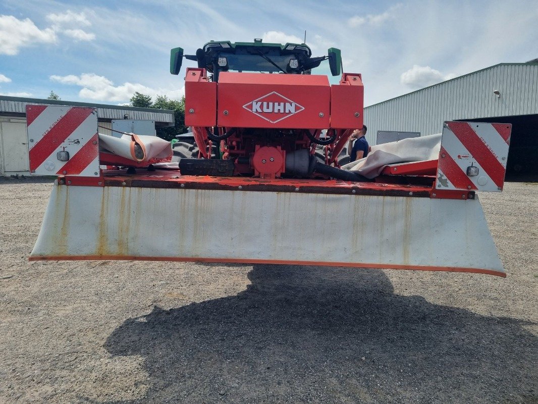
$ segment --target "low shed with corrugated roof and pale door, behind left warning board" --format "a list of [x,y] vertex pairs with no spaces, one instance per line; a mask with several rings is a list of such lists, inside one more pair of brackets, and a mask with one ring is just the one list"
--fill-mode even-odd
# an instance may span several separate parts
[[[116,119],[152,120],[155,121],[155,127],[174,126],[174,112],[165,109],[0,96],[0,175],[29,173],[26,135],[27,104],[97,108],[99,124],[109,129],[112,127],[112,120]],[[110,135],[111,131],[100,129],[100,133]]]

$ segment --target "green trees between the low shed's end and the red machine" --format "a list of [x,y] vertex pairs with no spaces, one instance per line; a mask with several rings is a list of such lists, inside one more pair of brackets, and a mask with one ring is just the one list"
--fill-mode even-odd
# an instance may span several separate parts
[[182,97],[181,100],[171,100],[166,95],[157,95],[155,101],[152,102],[150,95],[136,92],[130,101],[131,107],[169,109],[174,112],[174,126],[157,128],[157,136],[171,141],[176,135],[181,135],[187,131],[185,126],[185,97]]

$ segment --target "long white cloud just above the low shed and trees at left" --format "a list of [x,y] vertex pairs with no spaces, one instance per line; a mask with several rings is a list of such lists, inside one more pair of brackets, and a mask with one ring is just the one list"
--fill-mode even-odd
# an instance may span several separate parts
[[125,82],[122,85],[115,86],[114,82],[105,76],[99,76],[95,73],[82,73],[80,76],[73,74],[67,76],[52,75],[49,77],[67,85],[76,85],[82,87],[79,96],[84,99],[97,101],[128,101],[134,92],[139,92],[155,97],[158,94],[167,95],[173,99],[179,99],[183,95],[183,90],[166,90],[160,88],[151,88],[140,83]]

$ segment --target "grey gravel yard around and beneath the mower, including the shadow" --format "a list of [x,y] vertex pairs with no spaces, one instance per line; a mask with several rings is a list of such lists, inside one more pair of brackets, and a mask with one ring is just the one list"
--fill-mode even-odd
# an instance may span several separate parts
[[51,183],[0,180],[0,402],[538,402],[538,184],[481,195],[507,278],[29,262]]

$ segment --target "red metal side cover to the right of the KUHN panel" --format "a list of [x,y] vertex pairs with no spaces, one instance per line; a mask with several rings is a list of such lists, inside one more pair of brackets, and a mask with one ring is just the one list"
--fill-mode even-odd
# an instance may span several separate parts
[[344,73],[342,80],[331,86],[331,128],[363,127],[364,86],[360,74]]

